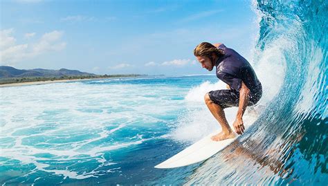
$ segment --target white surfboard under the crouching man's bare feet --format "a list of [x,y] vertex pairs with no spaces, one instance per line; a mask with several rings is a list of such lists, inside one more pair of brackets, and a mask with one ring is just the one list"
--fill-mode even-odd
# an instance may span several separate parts
[[[254,119],[255,118],[253,118],[253,121],[250,122],[248,125],[246,125],[244,122],[245,129],[247,129],[248,127],[250,127],[251,124],[253,124],[253,122],[256,120]],[[183,167],[186,165],[192,165],[194,163],[207,160],[211,156],[217,154],[219,151],[230,145],[238,137],[238,134],[236,133],[236,138],[222,141],[211,140],[211,137],[215,136],[220,131],[221,130],[210,133],[205,138],[199,140],[198,142],[195,142],[190,147],[187,147],[183,151],[172,156],[172,158],[169,158],[164,162],[161,162],[160,164],[156,165],[155,168],[170,169],[176,167]]]

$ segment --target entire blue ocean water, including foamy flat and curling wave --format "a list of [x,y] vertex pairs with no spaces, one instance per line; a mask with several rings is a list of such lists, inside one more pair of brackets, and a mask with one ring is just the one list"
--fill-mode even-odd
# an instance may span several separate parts
[[[327,185],[327,1],[253,9],[249,61],[264,92],[232,145],[188,167],[154,168],[220,128],[203,101],[225,89],[215,75],[3,87],[1,185]],[[230,124],[236,111],[225,110]]]

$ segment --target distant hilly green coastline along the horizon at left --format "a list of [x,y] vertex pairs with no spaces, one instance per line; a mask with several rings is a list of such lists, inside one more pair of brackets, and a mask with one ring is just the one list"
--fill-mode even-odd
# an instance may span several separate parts
[[117,74],[117,75],[96,75],[84,73],[76,70],[61,68],[60,70],[48,70],[35,68],[30,70],[20,70],[12,66],[0,66],[0,84],[12,84],[22,82],[45,82],[55,80],[82,80],[109,77],[138,77],[144,74]]

